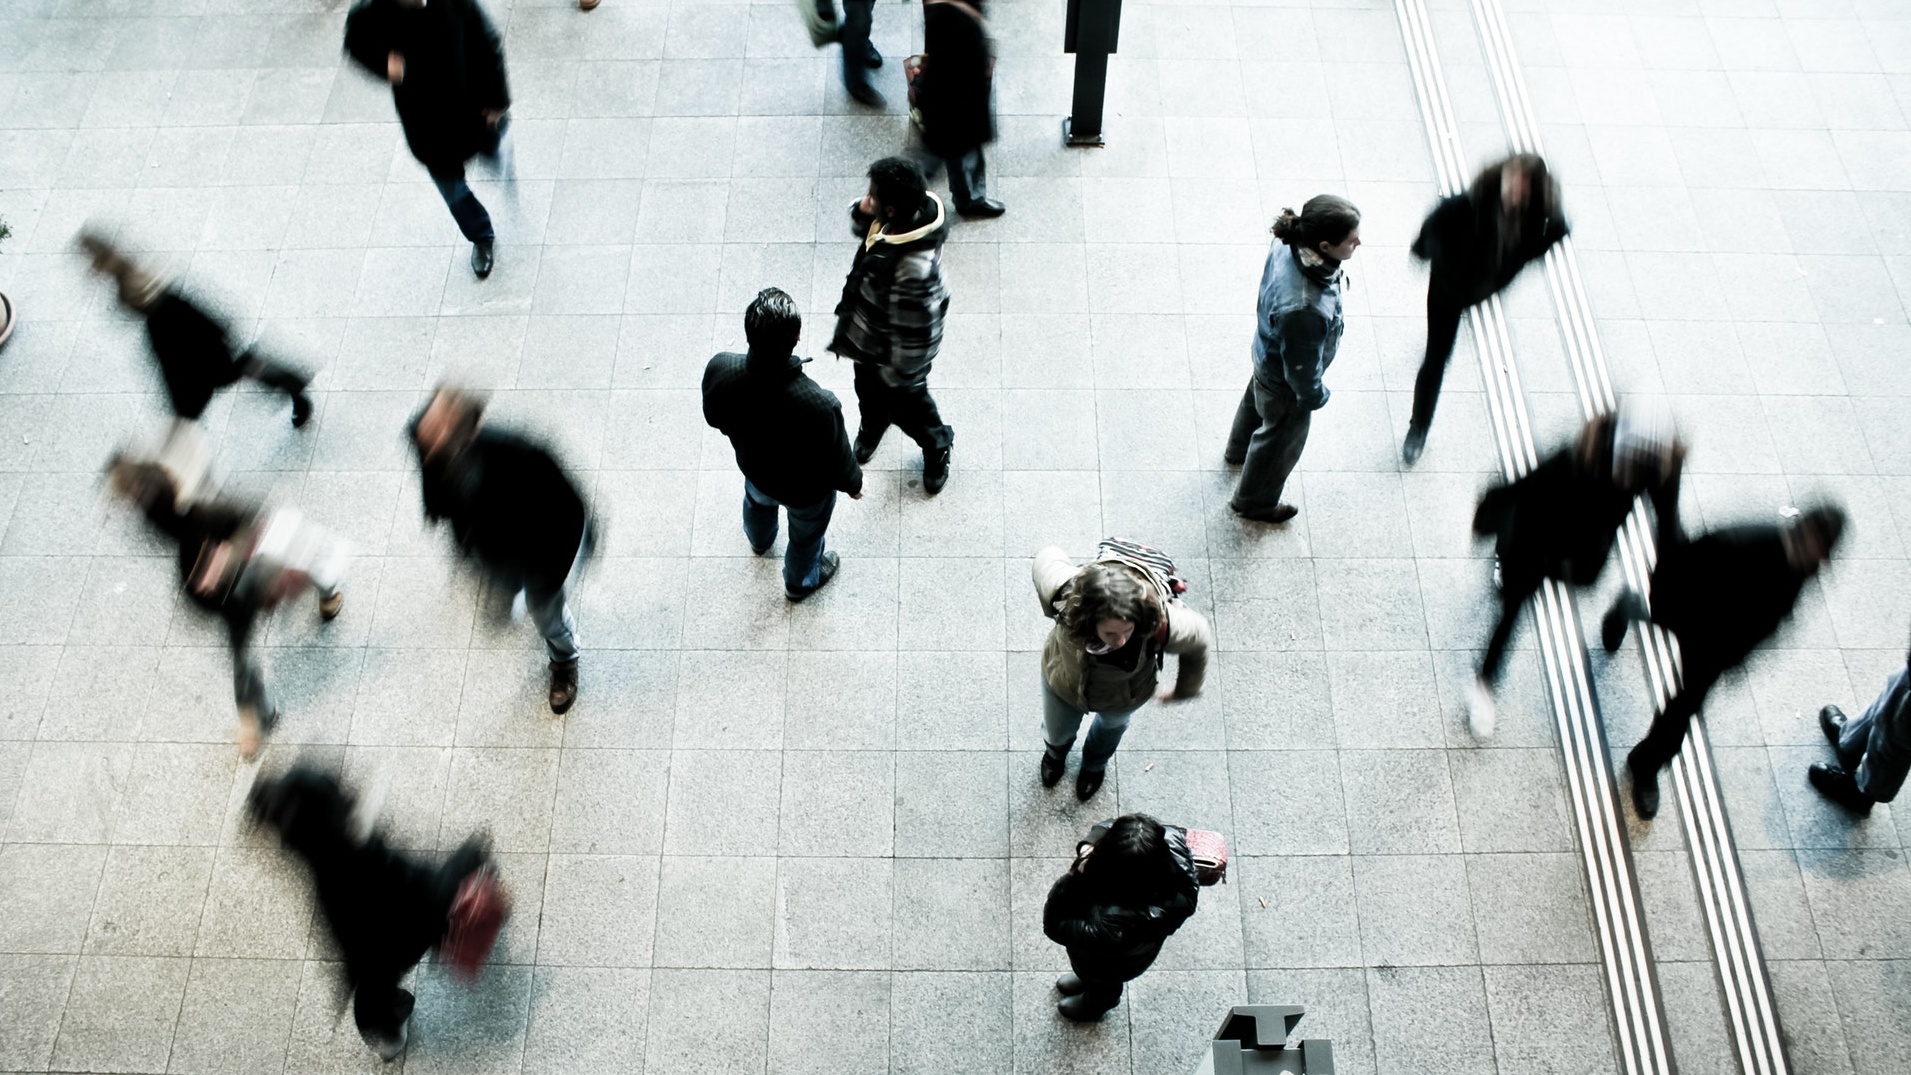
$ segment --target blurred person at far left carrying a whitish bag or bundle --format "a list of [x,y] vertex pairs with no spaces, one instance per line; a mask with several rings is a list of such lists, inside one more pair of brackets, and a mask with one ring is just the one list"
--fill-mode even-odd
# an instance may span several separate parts
[[[180,453],[178,437],[168,445],[170,454],[191,454]],[[199,498],[204,485],[199,475],[182,475],[168,462],[117,453],[107,464],[107,481],[174,542],[185,596],[225,622],[239,752],[250,758],[279,724],[279,706],[250,647],[252,628],[264,613],[306,590],[317,594],[319,617],[334,619],[346,600],[350,554],[336,535],[292,508],[266,512],[243,500]]]

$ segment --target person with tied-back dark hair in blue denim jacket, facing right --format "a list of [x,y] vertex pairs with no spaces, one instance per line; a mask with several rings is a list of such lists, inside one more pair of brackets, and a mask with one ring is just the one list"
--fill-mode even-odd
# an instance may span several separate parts
[[1313,412],[1326,407],[1326,369],[1340,349],[1340,263],[1361,246],[1361,210],[1334,195],[1280,210],[1261,269],[1254,376],[1235,409],[1225,458],[1240,468],[1229,508],[1257,523],[1299,514],[1280,493],[1307,447]]

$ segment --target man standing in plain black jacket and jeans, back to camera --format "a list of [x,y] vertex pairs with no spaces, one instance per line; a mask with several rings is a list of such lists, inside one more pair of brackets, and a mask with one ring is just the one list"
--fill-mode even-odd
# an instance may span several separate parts
[[764,288],[743,315],[749,353],[720,353],[703,370],[703,420],[722,430],[743,472],[743,537],[762,556],[776,542],[776,508],[789,512],[784,592],[801,601],[835,577],[824,550],[835,495],[862,498],[862,466],[843,428],[843,405],[803,372],[793,351],[803,315]]

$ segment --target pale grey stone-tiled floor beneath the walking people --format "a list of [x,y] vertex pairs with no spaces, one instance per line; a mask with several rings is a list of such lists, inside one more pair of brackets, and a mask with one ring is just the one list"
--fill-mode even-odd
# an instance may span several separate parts
[[[0,1071],[392,1071],[334,989],[302,871],[241,821],[227,657],[99,466],[162,418],[138,325],[71,254],[82,221],[319,369],[206,416],[227,483],[357,561],[344,615],[266,634],[290,756],[388,789],[411,848],[489,829],[518,913],[474,985],[422,966],[405,1071],[1171,1075],[1227,1004],[1303,1002],[1342,1071],[1613,1067],[1586,882],[1531,632],[1475,741],[1489,626],[1468,517],[1494,466],[1462,344],[1426,458],[1397,462],[1422,344],[1408,260],[1433,170],[1391,4],[1124,6],[1108,147],[1061,147],[1059,2],[992,6],[1009,214],[961,223],[933,384],[957,430],[927,498],[891,433],[843,500],[843,573],[789,605],[749,556],[698,376],[761,286],[818,348],[845,206],[908,141],[915,4],[883,2],[887,113],[850,105],[791,4],[487,0],[516,191],[476,183],[497,273],[340,55],[346,0],[0,0]],[[1473,160],[1504,143],[1466,4],[1437,4]],[[1691,439],[1691,525],[1829,491],[1850,559],[1710,727],[1798,1071],[1911,1064],[1911,875],[1888,810],[1804,787],[1810,714],[1901,655],[1911,533],[1911,11],[1517,4],[1622,391]],[[1227,510],[1267,223],[1351,197],[1347,336],[1286,529]],[[1546,437],[1577,420],[1540,281],[1510,296]],[[552,437],[608,519],[583,689],[543,703],[428,531],[401,439],[440,376]],[[1137,714],[1108,785],[1036,779],[1028,586],[1043,544],[1168,550],[1219,638],[1208,691]],[[1611,580],[1607,580],[1611,582]],[[1588,619],[1596,598],[1582,605]],[[1615,745],[1632,655],[1594,659]],[[1053,1012],[1041,899],[1118,812],[1223,831],[1231,884],[1101,1025]],[[1728,1071],[1670,810],[1634,827],[1684,1071]],[[1710,1004],[1710,1008],[1708,1008]]]

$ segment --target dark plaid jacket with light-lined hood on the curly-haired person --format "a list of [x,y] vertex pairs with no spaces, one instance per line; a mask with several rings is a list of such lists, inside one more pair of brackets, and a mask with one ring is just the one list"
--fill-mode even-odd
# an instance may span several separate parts
[[942,319],[950,309],[942,283],[950,225],[942,199],[923,195],[910,220],[889,225],[864,214],[858,202],[848,206],[848,220],[862,246],[843,281],[829,349],[877,367],[885,384],[923,384],[942,348]]

